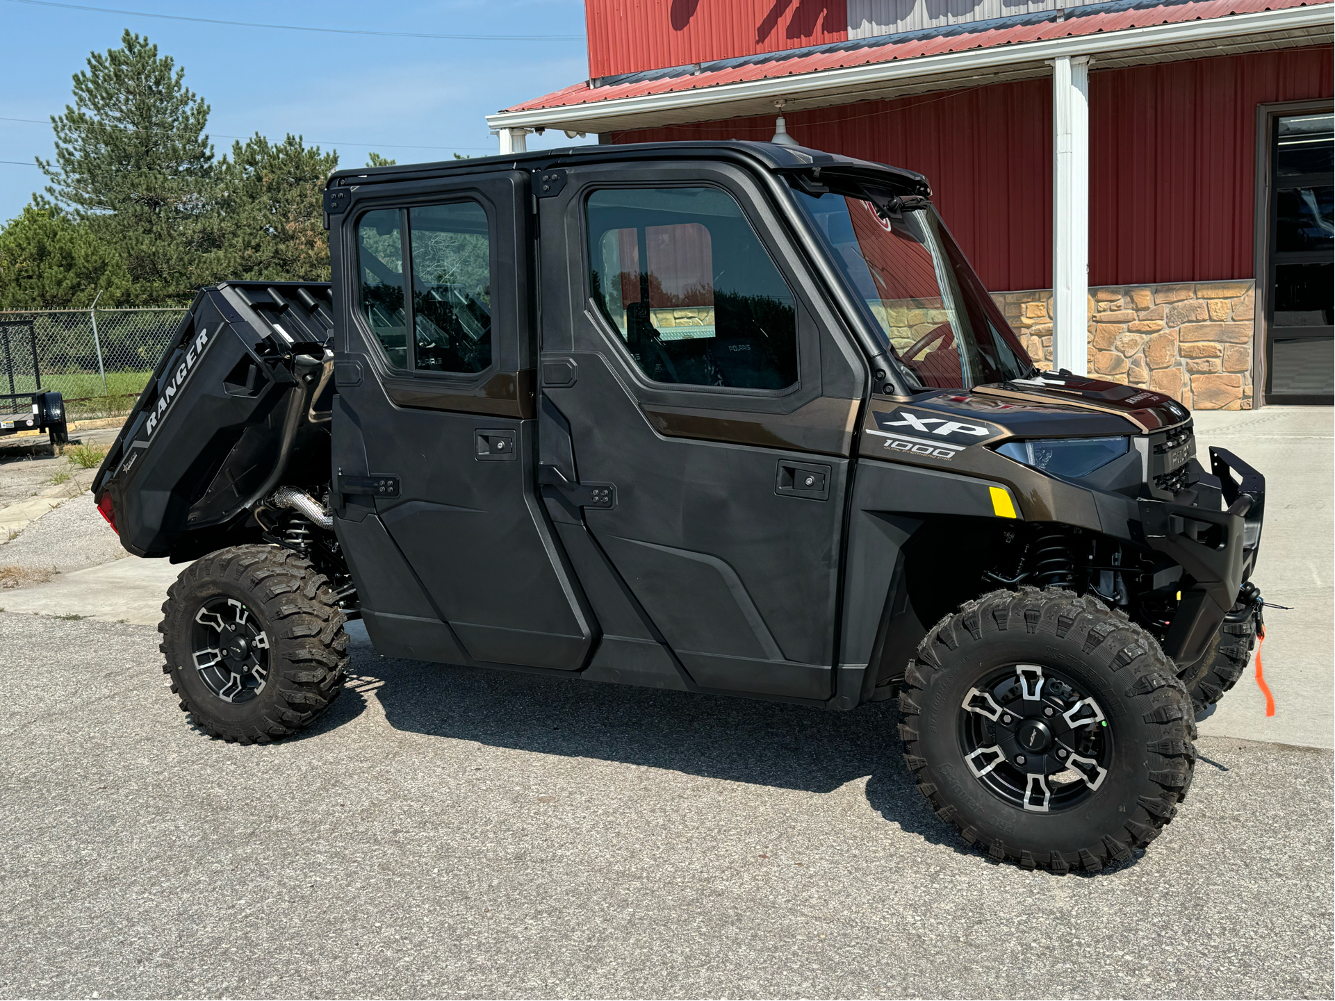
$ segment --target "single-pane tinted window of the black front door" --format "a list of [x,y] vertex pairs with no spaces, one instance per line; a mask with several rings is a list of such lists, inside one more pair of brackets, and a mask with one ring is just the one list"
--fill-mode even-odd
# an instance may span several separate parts
[[781,390],[797,382],[793,294],[718,188],[589,196],[594,302],[655,382]]

